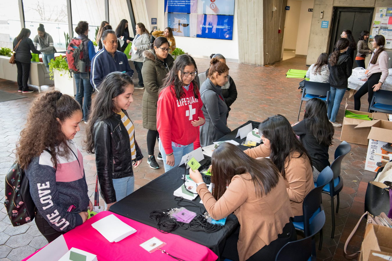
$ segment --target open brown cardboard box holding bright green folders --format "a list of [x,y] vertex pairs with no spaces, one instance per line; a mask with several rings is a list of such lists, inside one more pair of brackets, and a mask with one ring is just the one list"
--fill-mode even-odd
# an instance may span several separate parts
[[[347,102],[345,109],[347,108]],[[360,112],[356,110],[347,110],[349,112],[355,113],[355,114],[361,114],[361,115],[368,115],[369,117],[372,117],[373,114],[369,112]],[[361,144],[361,145],[367,145],[368,144],[368,134],[370,132],[371,126],[366,126],[366,127],[359,127],[358,125],[361,124],[362,122],[365,122],[366,120],[360,120],[360,119],[352,119],[352,118],[343,118],[343,124],[342,124],[342,131],[340,135],[340,141],[347,141],[348,143],[354,143],[354,144]],[[367,121],[370,122],[370,121]]]

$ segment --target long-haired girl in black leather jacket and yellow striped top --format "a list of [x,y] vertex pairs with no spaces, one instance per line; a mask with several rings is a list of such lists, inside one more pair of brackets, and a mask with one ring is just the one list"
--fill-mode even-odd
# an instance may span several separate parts
[[127,113],[133,91],[131,76],[121,72],[108,74],[100,84],[86,128],[86,150],[95,153],[107,210],[134,191],[132,166],[136,168],[142,163],[142,151]]

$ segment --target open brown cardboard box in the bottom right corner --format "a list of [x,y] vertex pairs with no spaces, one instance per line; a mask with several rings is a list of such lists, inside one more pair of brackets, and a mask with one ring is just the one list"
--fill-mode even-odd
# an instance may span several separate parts
[[363,261],[378,260],[370,257],[373,251],[388,255],[392,252],[392,229],[389,227],[368,224],[361,247],[361,259]]

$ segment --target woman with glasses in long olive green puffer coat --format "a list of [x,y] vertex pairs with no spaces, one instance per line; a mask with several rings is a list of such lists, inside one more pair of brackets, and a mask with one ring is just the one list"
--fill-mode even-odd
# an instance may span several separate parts
[[[159,168],[154,156],[155,142],[159,138],[156,129],[156,103],[158,101],[158,90],[162,87],[163,79],[165,79],[174,63],[174,59],[169,52],[169,42],[165,37],[156,38],[153,49],[143,52],[142,76],[145,87],[142,102],[143,128],[148,130],[147,163],[152,169]],[[162,160],[161,153],[158,153],[158,160]]]

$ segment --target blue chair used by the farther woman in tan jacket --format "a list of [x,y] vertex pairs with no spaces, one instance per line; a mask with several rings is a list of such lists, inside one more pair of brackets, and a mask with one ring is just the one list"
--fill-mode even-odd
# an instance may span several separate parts
[[[310,236],[312,233],[310,232],[310,225],[312,224],[315,216],[323,211],[323,205],[321,204],[321,190],[325,185],[331,182],[334,173],[330,167],[325,167],[323,171],[321,171],[320,175],[317,178],[316,187],[312,189],[305,196],[305,199],[302,203],[302,211],[303,211],[303,221],[302,222],[293,222],[296,230],[303,231],[305,236]],[[319,242],[319,250],[321,250],[321,245],[323,244],[323,230],[320,229],[320,242]]]

